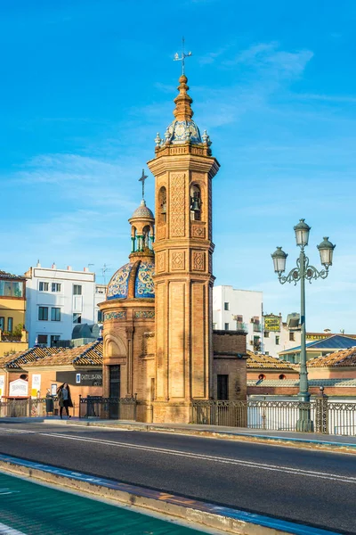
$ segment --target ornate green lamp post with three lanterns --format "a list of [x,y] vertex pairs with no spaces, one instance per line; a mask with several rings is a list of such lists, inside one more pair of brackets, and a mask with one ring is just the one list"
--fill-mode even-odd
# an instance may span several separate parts
[[327,278],[328,268],[333,263],[333,251],[335,245],[328,241],[328,237],[318,245],[320,252],[320,261],[324,267],[320,271],[314,266],[309,265],[309,259],[305,255],[304,249],[308,245],[309,233],[311,226],[307,225],[304,219],[300,219],[298,225],[295,225],[295,241],[296,245],[300,247],[299,258],[296,260],[296,268],[289,271],[285,276],[283,273],[286,270],[287,253],[282,251],[281,247],[277,247],[277,251],[271,255],[273,259],[274,271],[279,277],[279,283],[294,283],[301,282],[301,356],[300,356],[300,372],[299,372],[299,393],[298,399],[301,401],[299,410],[299,419],[296,422],[296,431],[310,432],[313,431],[313,424],[311,420],[310,399],[311,394],[308,387],[308,371],[306,367],[306,347],[305,347],[305,281],[312,283],[312,279]]

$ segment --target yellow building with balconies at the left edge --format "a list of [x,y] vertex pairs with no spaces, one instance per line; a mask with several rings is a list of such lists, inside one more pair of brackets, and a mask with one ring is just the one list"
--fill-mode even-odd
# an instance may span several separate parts
[[26,278],[0,271],[0,357],[28,349]]

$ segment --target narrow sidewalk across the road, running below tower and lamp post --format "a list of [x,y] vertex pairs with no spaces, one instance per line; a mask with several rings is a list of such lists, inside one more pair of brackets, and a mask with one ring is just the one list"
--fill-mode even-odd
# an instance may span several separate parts
[[124,420],[93,420],[72,417],[70,420],[57,417],[44,418],[0,418],[0,424],[60,424],[105,427],[110,429],[125,429],[141,432],[169,432],[183,435],[201,436],[223,440],[244,440],[293,446],[295,448],[332,449],[356,453],[356,436],[323,435],[320,433],[267,431],[261,429],[246,429],[238,427],[223,427],[220,425],[198,424],[144,424],[142,422]]

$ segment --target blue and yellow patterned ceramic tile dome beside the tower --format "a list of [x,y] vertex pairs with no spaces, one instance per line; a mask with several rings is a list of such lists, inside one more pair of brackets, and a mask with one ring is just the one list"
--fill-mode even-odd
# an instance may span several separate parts
[[134,264],[125,264],[117,269],[108,285],[107,300],[127,299],[129,283],[134,277],[134,298],[144,299],[155,297],[155,284],[153,275],[155,263],[152,259],[138,260]]

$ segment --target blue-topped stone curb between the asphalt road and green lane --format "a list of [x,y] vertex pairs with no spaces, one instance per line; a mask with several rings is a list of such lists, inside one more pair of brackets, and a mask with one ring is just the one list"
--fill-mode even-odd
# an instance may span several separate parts
[[61,485],[71,490],[79,490],[92,495],[92,498],[93,495],[99,493],[102,498],[113,499],[128,506],[139,506],[197,523],[200,527],[206,526],[239,535],[336,535],[336,531],[322,530],[261,514],[216,506],[18,457],[0,454],[0,471]]

